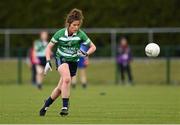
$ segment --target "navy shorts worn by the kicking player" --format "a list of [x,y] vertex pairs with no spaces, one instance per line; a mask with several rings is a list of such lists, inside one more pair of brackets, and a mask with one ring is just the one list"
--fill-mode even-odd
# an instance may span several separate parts
[[56,68],[58,69],[58,67],[63,64],[63,63],[67,63],[69,65],[69,71],[70,71],[70,75],[71,77],[76,75],[76,71],[77,71],[77,62],[71,62],[71,61],[65,61],[63,58],[55,58],[56,60]]

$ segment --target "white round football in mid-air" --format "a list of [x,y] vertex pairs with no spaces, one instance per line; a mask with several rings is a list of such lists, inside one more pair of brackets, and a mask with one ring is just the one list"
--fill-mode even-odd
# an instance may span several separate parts
[[160,53],[160,47],[156,43],[149,43],[145,47],[145,53],[149,57],[157,57]]

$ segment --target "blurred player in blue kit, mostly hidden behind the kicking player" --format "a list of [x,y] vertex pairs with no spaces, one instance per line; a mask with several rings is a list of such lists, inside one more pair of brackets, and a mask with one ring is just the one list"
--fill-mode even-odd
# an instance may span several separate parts
[[[87,51],[88,47],[81,44],[80,50]],[[89,58],[88,57],[80,57],[78,61],[78,72],[79,72],[79,78],[80,82],[82,84],[83,88],[87,87],[87,75],[86,75],[86,68],[89,64]],[[77,75],[72,78],[72,88],[75,88],[77,84]]]

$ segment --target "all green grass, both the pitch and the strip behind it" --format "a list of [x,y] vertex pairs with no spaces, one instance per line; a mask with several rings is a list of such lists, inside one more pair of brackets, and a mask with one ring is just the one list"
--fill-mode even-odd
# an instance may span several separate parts
[[[44,79],[43,91],[38,91],[30,85],[30,69],[24,61],[23,82],[17,85],[17,64],[17,60],[0,61],[0,123],[180,123],[180,87],[165,85],[165,60],[134,60],[134,87],[114,85],[113,61],[91,61],[90,86],[72,90],[68,117],[58,114],[60,99],[46,117],[38,116],[43,100],[59,79],[55,66]],[[179,67],[179,60],[171,60],[172,83],[179,84]]]

